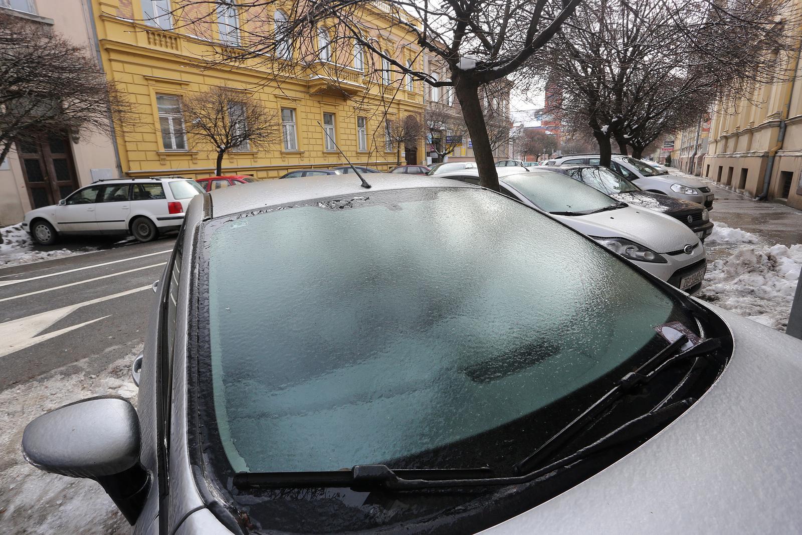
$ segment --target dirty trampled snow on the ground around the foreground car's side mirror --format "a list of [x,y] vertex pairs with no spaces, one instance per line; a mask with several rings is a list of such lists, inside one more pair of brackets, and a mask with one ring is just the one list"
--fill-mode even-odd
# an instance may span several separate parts
[[51,379],[34,379],[0,392],[0,533],[132,532],[99,484],[37,470],[22,458],[20,444],[31,419],[66,403],[114,394],[136,405],[130,371],[140,350],[141,346],[97,375],[91,373],[89,359],[83,359],[48,374]]

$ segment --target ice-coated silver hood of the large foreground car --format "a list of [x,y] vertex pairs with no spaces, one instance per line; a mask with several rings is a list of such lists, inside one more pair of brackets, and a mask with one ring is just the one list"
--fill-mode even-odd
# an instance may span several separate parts
[[734,350],[699,401],[602,472],[482,533],[802,533],[802,341],[703,305]]

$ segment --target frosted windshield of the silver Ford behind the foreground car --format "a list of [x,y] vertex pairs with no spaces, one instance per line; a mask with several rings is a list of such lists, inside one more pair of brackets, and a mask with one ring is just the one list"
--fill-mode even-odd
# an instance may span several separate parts
[[530,171],[505,176],[504,182],[549,213],[581,215],[619,204],[597,189],[557,172]]

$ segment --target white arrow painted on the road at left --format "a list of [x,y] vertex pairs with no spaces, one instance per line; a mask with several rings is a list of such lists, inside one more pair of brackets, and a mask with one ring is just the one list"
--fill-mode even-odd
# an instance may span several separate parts
[[150,290],[150,286],[140,286],[140,288],[119,292],[119,294],[111,294],[102,298],[95,298],[89,301],[76,303],[75,305],[63,306],[55,310],[47,310],[47,312],[40,312],[39,314],[33,314],[31,316],[27,316],[26,318],[13,319],[10,322],[0,323],[0,358],[9,355],[10,353],[14,353],[14,351],[20,351],[26,347],[34,346],[39,342],[44,342],[50,338],[55,338],[56,336],[68,333],[71,330],[79,329],[80,327],[89,325],[90,323],[99,322],[101,319],[109,317],[103,316],[102,318],[91,319],[88,322],[64,327],[63,329],[54,330],[51,333],[37,336],[37,333],[46,330],[49,326],[53,325],[55,322],[59,322],[59,320],[63,318],[66,318],[69,314],[72,314],[79,308],[108,301],[109,299],[121,298],[126,295],[136,294],[137,292],[144,290]]

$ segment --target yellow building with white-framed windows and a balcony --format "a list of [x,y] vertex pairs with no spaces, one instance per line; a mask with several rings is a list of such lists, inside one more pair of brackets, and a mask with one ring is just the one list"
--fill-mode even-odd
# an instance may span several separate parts
[[[294,169],[345,164],[334,146],[326,143],[321,125],[354,164],[387,170],[395,166],[398,152],[401,164],[423,160],[422,140],[399,151],[387,136],[387,121],[422,116],[422,83],[399,79],[395,73],[379,73],[375,80],[368,67],[371,61],[363,52],[332,51],[335,47],[327,46],[326,40],[314,61],[308,55],[299,58],[296,47],[282,49],[286,59],[273,60],[285,65],[280,74],[264,60],[214,65],[210,59],[221,47],[229,55],[236,54],[237,46],[245,46],[240,31],[259,33],[259,27],[249,25],[264,24],[265,18],[256,22],[242,8],[221,13],[218,7],[215,12],[214,3],[209,2],[192,6],[193,10],[213,10],[205,21],[187,26],[172,19],[170,11],[180,6],[169,0],[91,2],[103,67],[108,78],[136,102],[139,114],[136,124],[117,128],[119,160],[128,176],[214,174],[216,153],[211,145],[181,133],[181,99],[214,86],[241,91],[244,99],[261,100],[281,120],[281,142],[268,150],[229,152],[223,174],[277,178]],[[272,16],[280,20],[284,14]],[[399,60],[422,65],[419,47],[410,44],[401,30],[386,32],[379,39]]]

